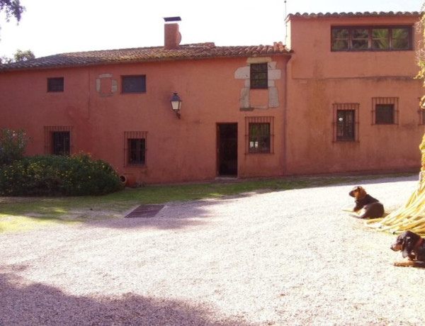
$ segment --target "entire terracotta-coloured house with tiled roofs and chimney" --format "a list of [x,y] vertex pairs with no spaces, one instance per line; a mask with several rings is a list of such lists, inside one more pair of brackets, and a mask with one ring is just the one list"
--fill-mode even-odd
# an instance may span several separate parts
[[28,155],[89,152],[129,186],[419,169],[417,21],[295,14],[286,45],[249,47],[180,45],[166,22],[162,47],[0,66],[0,127],[26,130]]

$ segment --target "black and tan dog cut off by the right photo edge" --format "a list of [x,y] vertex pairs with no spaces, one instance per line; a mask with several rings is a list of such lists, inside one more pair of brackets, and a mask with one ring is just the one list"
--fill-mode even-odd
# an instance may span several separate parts
[[425,241],[420,235],[412,231],[402,232],[390,247],[395,252],[402,252],[402,262],[395,262],[395,266],[425,267]]

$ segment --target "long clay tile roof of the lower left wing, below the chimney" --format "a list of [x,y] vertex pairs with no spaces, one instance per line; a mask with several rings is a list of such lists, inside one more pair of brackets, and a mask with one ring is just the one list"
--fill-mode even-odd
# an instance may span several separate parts
[[215,46],[214,43],[179,45],[173,50],[164,47],[138,47],[133,49],[101,50],[62,53],[33,60],[0,64],[1,71],[76,67],[118,62],[149,62],[162,60],[198,60],[220,57],[255,57],[261,55],[290,55],[281,42],[259,46]]

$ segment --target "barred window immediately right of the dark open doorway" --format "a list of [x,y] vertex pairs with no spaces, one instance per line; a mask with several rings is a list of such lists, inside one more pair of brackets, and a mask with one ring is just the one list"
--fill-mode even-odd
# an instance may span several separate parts
[[245,118],[245,154],[274,152],[273,117]]

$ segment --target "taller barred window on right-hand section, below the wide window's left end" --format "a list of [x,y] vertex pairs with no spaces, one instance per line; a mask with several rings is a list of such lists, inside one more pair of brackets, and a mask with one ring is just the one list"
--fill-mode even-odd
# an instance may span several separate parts
[[359,103],[334,103],[334,141],[358,141]]

